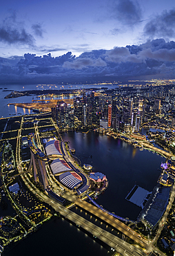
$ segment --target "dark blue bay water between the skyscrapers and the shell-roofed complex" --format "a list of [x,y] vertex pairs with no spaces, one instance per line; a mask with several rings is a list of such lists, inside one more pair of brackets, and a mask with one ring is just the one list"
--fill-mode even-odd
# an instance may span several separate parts
[[82,165],[88,163],[93,166],[93,172],[107,176],[109,186],[96,202],[121,217],[136,220],[141,208],[125,197],[135,184],[151,192],[164,158],[94,131],[88,134],[69,132],[63,134],[63,139],[70,141],[70,148],[76,149],[75,155]]

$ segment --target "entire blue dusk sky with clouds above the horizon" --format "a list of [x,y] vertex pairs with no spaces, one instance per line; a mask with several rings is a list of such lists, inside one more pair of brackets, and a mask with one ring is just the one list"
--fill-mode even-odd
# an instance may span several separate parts
[[0,83],[175,79],[174,0],[6,0]]

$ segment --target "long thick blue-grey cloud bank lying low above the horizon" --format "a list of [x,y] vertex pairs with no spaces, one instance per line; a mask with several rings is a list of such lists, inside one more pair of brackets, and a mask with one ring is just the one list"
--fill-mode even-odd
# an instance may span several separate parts
[[1,84],[100,82],[104,80],[175,79],[175,42],[154,39],[141,45],[95,50],[79,57],[25,53],[0,58]]

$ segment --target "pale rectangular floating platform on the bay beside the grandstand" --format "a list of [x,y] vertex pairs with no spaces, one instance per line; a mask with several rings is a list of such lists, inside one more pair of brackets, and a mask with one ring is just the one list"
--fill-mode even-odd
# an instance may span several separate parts
[[149,192],[145,190],[144,188],[139,187],[138,185],[134,185],[134,188],[130,191],[129,194],[125,197],[127,201],[130,201],[134,203],[135,205],[138,205],[142,209],[144,208],[144,202],[147,200],[147,196],[151,194],[152,192]]

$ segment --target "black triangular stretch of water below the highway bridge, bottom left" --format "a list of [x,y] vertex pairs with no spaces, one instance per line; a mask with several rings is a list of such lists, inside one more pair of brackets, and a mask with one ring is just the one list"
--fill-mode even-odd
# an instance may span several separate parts
[[45,223],[40,230],[20,241],[6,256],[96,256],[111,255],[84,232],[64,219]]

